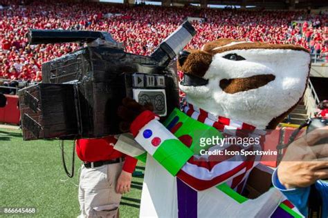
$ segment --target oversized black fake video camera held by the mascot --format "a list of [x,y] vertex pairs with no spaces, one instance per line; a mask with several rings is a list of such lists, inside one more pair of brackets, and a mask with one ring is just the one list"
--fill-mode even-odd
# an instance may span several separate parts
[[19,91],[24,140],[119,134],[117,110],[125,97],[151,102],[158,115],[169,115],[179,107],[170,63],[194,34],[187,21],[147,57],[125,52],[108,33],[30,30],[30,43],[86,41],[88,46],[43,63],[42,83]]

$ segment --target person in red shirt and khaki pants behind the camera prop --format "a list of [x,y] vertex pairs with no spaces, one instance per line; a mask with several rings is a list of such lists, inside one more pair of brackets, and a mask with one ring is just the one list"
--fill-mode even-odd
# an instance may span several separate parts
[[83,217],[118,217],[122,194],[130,191],[137,160],[114,150],[113,136],[78,139],[76,154],[84,161],[79,185]]

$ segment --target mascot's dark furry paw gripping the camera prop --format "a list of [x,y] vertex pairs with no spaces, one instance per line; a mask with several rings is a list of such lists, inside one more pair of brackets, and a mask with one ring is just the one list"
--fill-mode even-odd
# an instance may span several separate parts
[[126,97],[122,100],[122,106],[118,107],[118,117],[122,119],[119,123],[120,130],[122,132],[129,132],[131,123],[145,110],[154,110],[152,103],[146,103],[142,106],[134,99]]

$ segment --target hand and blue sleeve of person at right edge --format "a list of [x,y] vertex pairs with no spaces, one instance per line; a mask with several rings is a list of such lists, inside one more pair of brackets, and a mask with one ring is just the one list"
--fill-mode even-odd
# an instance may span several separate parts
[[328,217],[328,182],[321,180],[328,179],[328,143],[316,144],[325,138],[328,138],[328,126],[293,141],[273,174],[275,188],[304,216],[316,211],[309,207],[310,199],[313,201],[311,193],[316,192],[314,200],[318,202],[315,205],[320,206],[317,217],[320,213],[321,217]]

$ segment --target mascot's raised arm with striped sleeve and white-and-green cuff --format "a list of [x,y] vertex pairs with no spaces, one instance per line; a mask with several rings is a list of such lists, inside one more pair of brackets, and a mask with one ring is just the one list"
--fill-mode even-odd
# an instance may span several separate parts
[[254,161],[194,160],[194,152],[146,110],[131,123],[135,140],[172,176],[195,190],[206,190],[253,168]]

